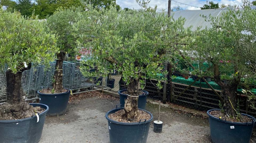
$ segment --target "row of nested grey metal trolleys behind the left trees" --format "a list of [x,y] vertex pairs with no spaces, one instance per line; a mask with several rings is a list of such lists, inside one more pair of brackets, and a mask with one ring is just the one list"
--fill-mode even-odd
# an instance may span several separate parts
[[[63,62],[63,88],[71,89],[74,92],[79,92],[82,89],[93,89],[95,84],[82,75],[79,65],[79,62]],[[55,62],[52,62],[48,68],[44,65],[32,66],[30,70],[22,73],[22,88],[26,93],[26,99],[36,99],[38,90],[52,87],[54,70]],[[6,78],[2,72],[0,73],[0,103],[5,101]]]

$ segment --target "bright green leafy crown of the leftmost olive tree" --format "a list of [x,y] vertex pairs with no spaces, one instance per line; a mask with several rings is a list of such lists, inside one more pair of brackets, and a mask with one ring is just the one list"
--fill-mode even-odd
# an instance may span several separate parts
[[49,64],[58,51],[57,38],[44,22],[11,13],[0,8],[0,65],[16,73],[26,64]]

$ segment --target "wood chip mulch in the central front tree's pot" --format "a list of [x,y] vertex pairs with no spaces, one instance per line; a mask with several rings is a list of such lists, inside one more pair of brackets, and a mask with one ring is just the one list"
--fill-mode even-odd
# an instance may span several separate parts
[[[143,111],[143,110],[139,110],[139,116],[138,118],[136,119],[133,119],[133,121],[128,121],[128,120],[124,120],[122,118],[122,115],[123,115],[123,109],[122,110],[118,110],[117,112],[115,113],[112,113],[112,114],[109,114],[109,118],[114,120],[114,121],[117,121],[117,122],[123,122],[123,123],[138,123],[139,120],[141,119],[146,119],[146,120],[149,120],[151,118],[150,114]],[[142,120],[143,122],[144,120]]]

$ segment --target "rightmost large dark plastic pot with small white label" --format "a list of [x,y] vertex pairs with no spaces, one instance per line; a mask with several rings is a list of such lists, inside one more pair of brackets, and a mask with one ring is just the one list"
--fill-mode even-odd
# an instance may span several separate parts
[[[214,111],[208,110],[207,115],[209,116],[210,131],[211,131],[211,141],[214,143],[225,142],[225,143],[249,143],[251,138],[251,133],[253,131],[253,126],[255,124],[255,118],[248,116],[253,119],[253,122],[249,123],[239,123],[239,122],[229,122],[222,119],[218,119],[209,112]],[[219,109],[217,109],[219,110]]]

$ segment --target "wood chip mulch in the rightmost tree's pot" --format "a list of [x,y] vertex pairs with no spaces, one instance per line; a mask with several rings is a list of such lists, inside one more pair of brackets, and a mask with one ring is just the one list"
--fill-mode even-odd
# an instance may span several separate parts
[[216,110],[216,111],[211,111],[209,112],[211,115],[213,115],[216,118],[221,117],[222,120],[226,120],[229,122],[240,122],[240,123],[246,123],[246,122],[252,122],[253,119],[249,118],[248,116],[243,116],[241,115],[241,120],[237,121],[237,119],[234,118],[230,118],[227,115],[224,115],[223,112],[221,112],[221,110]]

